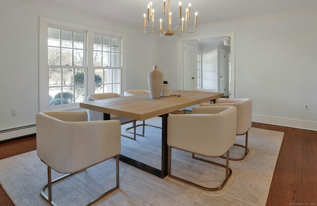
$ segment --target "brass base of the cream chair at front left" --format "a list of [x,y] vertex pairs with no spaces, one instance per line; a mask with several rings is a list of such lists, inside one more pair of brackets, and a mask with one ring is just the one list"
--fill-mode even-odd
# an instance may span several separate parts
[[[108,195],[109,193],[113,192],[114,190],[118,189],[119,188],[119,155],[116,155],[114,156],[116,158],[116,186],[111,188],[110,190],[106,191],[104,194],[100,195],[99,197],[95,198],[94,200],[90,201],[89,203],[85,204],[84,206],[90,206],[94,203],[96,203],[97,201],[99,201],[100,199],[104,198],[106,195]],[[88,167],[87,167],[88,168]],[[86,169],[86,168],[85,168]],[[80,170],[82,171],[82,170]],[[78,171],[78,172],[80,172]],[[64,176],[61,176],[57,179],[54,179],[52,181],[52,169],[50,166],[48,166],[48,184],[45,185],[42,189],[41,189],[41,196],[42,198],[44,198],[46,200],[46,202],[48,202],[51,206],[57,206],[53,200],[52,200],[52,184],[55,183],[55,182],[58,182],[66,177],[69,177],[73,174],[76,174],[78,172],[74,172],[74,173],[69,173],[69,174],[66,174]],[[48,187],[48,196],[44,193],[44,190]]]

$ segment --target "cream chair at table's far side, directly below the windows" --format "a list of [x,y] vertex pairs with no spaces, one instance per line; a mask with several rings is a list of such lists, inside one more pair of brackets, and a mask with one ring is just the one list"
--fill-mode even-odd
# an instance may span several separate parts
[[[115,98],[115,97],[122,97],[124,95],[118,94],[118,93],[100,93],[100,94],[90,94],[88,95],[87,101],[95,101],[95,100],[100,100],[100,99],[108,99],[108,98]],[[104,120],[104,113],[102,112],[97,112],[94,110],[88,110],[88,121],[101,121]],[[133,137],[121,134],[123,137],[127,137],[129,139],[136,140],[136,121],[124,117],[119,117],[115,115],[110,115],[110,120],[120,120],[121,125],[123,124],[129,124],[132,123],[132,127],[134,128],[134,132],[130,132],[133,134]]]

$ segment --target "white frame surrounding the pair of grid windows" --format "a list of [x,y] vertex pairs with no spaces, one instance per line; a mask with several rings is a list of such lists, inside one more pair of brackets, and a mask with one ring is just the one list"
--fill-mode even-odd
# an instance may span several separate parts
[[[95,69],[93,67],[93,43],[94,34],[104,34],[121,38],[121,92],[126,88],[126,50],[127,36],[123,33],[113,32],[100,28],[59,21],[47,17],[41,17],[39,20],[39,111],[60,111],[79,108],[79,103],[49,106],[49,71],[48,71],[48,27],[57,27],[66,30],[81,31],[86,33],[86,45],[84,53],[87,58],[84,60],[85,68],[85,91],[86,94],[95,92]],[[87,97],[85,97],[86,99]]]

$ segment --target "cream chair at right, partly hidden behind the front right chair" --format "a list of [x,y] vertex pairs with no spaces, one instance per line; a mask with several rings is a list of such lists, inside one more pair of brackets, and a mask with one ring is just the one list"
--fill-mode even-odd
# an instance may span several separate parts
[[245,159],[249,153],[248,148],[248,131],[252,124],[252,100],[248,98],[241,99],[217,99],[215,104],[202,103],[201,106],[226,105],[237,108],[237,131],[236,135],[246,135],[245,145],[234,144],[245,148],[245,154],[241,158],[230,158],[230,160],[240,161]]

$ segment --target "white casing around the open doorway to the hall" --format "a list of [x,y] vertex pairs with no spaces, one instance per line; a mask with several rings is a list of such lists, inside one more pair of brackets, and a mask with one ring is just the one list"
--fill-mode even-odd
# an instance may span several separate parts
[[235,98],[235,33],[219,33],[204,36],[192,36],[177,39],[177,89],[183,89],[183,42],[192,40],[204,40],[221,37],[230,37],[232,92],[230,98]]

